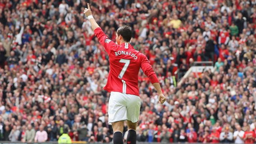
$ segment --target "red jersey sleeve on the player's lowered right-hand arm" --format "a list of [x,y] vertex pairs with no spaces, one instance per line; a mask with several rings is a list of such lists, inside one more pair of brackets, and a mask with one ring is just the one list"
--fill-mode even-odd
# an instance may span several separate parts
[[141,54],[141,69],[143,70],[144,74],[150,79],[150,82],[152,84],[159,82],[156,73],[150,65],[146,55],[144,54]]

